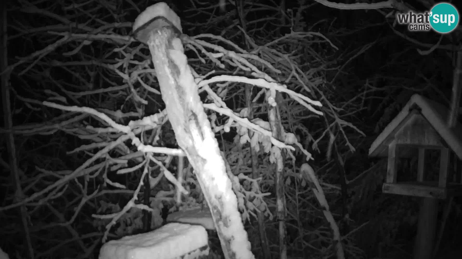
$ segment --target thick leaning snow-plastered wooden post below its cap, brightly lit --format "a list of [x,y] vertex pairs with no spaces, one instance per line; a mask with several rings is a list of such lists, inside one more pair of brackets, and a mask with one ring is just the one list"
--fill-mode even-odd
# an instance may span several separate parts
[[226,259],[252,259],[250,243],[237,210],[237,197],[218,142],[184,55],[182,41],[168,27],[152,31],[148,42],[162,99],[178,146],[186,153],[212,212]]

